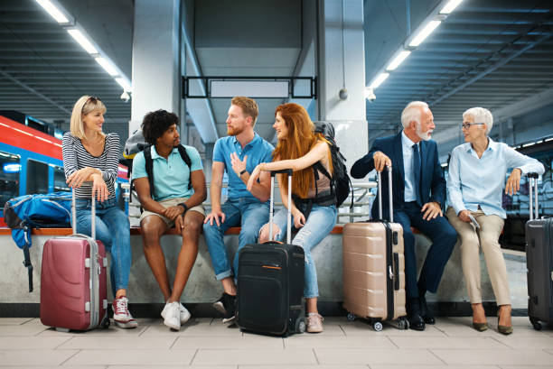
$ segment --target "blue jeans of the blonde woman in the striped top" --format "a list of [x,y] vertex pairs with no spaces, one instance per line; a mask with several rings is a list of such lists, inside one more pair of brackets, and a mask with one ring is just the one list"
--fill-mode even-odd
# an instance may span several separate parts
[[[77,198],[77,233],[90,235],[92,229],[91,199]],[[71,220],[72,221],[72,220]],[[127,290],[131,265],[130,224],[127,214],[118,206],[116,198],[96,201],[96,239],[111,254],[109,275],[111,291]]]

